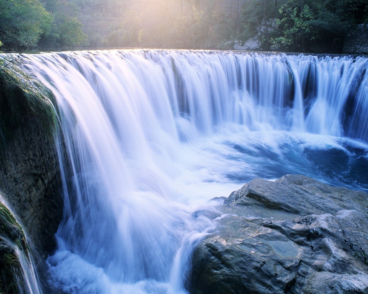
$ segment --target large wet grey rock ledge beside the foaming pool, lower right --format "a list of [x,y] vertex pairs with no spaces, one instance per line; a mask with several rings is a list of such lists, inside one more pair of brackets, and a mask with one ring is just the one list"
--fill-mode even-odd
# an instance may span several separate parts
[[367,193],[286,175],[254,179],[215,208],[191,293],[368,293]]

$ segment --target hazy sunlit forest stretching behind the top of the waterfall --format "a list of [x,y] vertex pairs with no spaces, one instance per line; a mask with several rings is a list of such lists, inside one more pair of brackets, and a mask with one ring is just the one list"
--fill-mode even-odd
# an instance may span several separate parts
[[340,53],[366,0],[0,0],[0,49],[232,49]]

